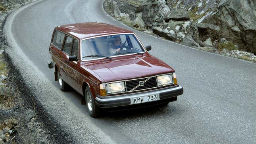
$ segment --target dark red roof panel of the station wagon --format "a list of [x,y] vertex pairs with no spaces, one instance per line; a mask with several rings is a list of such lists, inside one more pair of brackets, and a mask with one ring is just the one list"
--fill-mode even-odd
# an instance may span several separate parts
[[133,33],[127,29],[122,29],[106,23],[74,23],[57,26],[55,29],[78,39],[117,33]]

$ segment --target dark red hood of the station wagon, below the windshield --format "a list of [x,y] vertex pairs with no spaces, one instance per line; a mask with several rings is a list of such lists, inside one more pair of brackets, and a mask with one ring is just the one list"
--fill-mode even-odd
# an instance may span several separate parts
[[84,66],[94,71],[105,82],[174,72],[169,65],[149,54],[126,58],[116,57],[112,58],[112,60],[104,59],[102,61],[85,63]]

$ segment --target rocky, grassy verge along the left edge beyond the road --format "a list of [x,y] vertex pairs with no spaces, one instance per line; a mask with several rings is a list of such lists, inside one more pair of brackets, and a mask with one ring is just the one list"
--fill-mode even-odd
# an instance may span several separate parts
[[0,144],[56,143],[41,119],[35,100],[20,91],[21,77],[5,50],[3,26],[15,9],[35,0],[0,2]]

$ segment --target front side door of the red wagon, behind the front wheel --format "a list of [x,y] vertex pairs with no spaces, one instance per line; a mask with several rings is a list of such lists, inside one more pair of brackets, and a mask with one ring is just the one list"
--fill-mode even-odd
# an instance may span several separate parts
[[79,84],[77,81],[77,65],[79,65],[79,41],[76,38],[73,38],[73,44],[71,48],[70,56],[77,56],[78,61],[69,61],[67,65],[69,66],[69,73],[67,76],[69,77],[70,85],[75,89],[79,90]]

